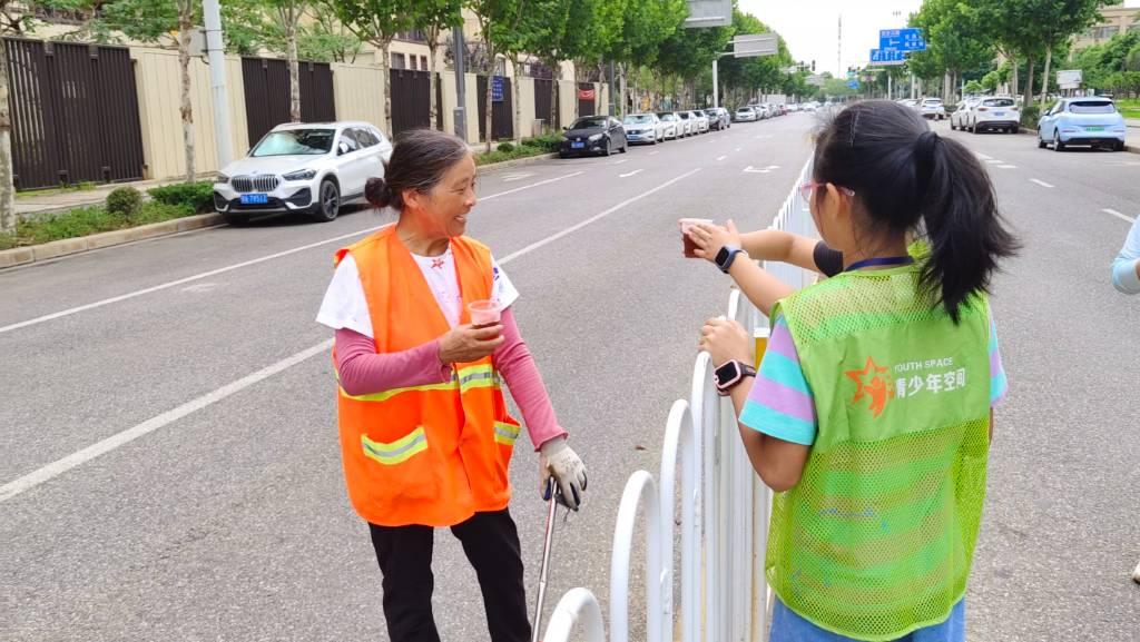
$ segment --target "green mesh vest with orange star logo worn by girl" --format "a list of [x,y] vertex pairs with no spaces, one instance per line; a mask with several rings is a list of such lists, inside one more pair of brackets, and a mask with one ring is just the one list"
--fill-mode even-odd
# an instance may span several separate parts
[[845,273],[781,301],[815,397],[799,483],[775,495],[768,583],[858,640],[946,619],[966,594],[990,448],[988,303],[955,325],[919,266]]

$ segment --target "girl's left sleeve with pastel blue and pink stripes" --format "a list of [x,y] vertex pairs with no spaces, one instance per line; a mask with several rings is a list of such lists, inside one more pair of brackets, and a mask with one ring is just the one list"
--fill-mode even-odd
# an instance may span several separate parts
[[740,423],[769,437],[811,446],[815,442],[815,399],[783,316],[776,317]]

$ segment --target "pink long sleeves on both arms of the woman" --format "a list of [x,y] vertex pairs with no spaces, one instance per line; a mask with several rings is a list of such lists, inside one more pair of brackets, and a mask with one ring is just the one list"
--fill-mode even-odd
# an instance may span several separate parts
[[[503,373],[511,396],[522,409],[530,442],[537,450],[543,444],[567,434],[567,431],[554,416],[546,385],[510,308],[503,311],[502,323],[505,341],[495,350],[492,359],[496,369]],[[336,331],[336,372],[341,388],[353,396],[408,385],[446,383],[451,379],[451,366],[439,360],[438,339],[410,350],[377,355],[372,339],[348,328]]]

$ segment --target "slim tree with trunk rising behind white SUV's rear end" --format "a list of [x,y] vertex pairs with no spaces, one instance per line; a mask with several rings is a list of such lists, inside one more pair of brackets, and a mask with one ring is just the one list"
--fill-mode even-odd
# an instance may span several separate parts
[[380,72],[384,76],[384,125],[392,132],[392,76],[390,49],[396,34],[414,29],[420,0],[320,0],[321,9],[332,10],[341,24],[357,38],[380,51]]

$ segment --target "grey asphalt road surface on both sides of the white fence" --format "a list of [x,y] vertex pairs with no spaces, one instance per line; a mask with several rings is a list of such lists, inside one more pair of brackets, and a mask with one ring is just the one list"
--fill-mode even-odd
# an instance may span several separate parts
[[[589,469],[586,506],[557,525],[548,609],[575,586],[604,609],[621,489],[657,471],[700,322],[724,311],[728,284],[681,258],[676,219],[766,226],[811,125],[791,115],[481,179],[469,234],[521,291],[523,336]],[[1140,211],[1140,156],[953,136],[994,161],[1026,244],[995,284],[1011,392],[969,639],[1135,640],[1140,299],[1112,289],[1108,265],[1119,217]],[[391,220],[220,227],[0,273],[0,639],[386,640],[343,489],[331,333],[312,319],[333,251]],[[535,455],[520,447],[513,469],[534,595]],[[486,639],[458,543],[435,543],[443,639]]]

